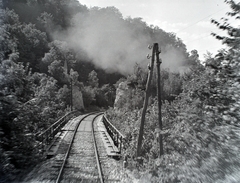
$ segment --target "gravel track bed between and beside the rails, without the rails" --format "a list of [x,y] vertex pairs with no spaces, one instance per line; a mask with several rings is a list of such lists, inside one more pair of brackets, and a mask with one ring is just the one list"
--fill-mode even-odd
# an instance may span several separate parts
[[[56,155],[36,166],[34,170],[26,176],[23,182],[52,183],[56,181],[65,153],[71,141],[75,125],[82,117],[83,116],[79,116],[69,121],[63,128],[61,144],[59,145]],[[78,128],[63,170],[61,182],[99,182],[91,133],[91,119],[93,119],[93,115],[82,121]],[[107,156],[107,151],[101,139],[101,131],[98,130],[98,123],[101,123],[100,117],[94,122],[94,134],[104,175],[104,182],[131,182],[122,168],[122,160],[115,160]]]

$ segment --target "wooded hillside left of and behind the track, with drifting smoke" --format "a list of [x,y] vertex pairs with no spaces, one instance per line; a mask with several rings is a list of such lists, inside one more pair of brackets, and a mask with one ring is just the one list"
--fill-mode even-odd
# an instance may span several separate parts
[[88,9],[76,0],[3,0],[0,16],[3,182],[39,160],[35,135],[70,110],[71,85],[74,109],[113,106],[113,84],[136,63],[146,65],[148,44],[159,41],[163,52],[170,48],[188,57],[174,34],[149,27],[141,18],[123,19],[114,7]]

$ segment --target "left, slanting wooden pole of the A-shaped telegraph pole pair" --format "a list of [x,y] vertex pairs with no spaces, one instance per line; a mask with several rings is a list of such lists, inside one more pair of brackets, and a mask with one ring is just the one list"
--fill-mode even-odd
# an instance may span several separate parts
[[141,124],[140,124],[140,130],[139,130],[139,136],[138,136],[138,143],[137,143],[137,157],[141,156],[141,148],[142,148],[142,140],[143,140],[143,129],[144,129],[144,122],[145,122],[145,115],[147,111],[147,105],[148,105],[148,99],[150,96],[150,85],[151,85],[151,80],[153,76],[153,67],[154,67],[154,60],[155,60],[155,47],[157,43],[154,43],[152,47],[152,59],[149,65],[149,71],[148,71],[148,79],[147,79],[147,84],[146,84],[146,91],[145,91],[145,99],[143,103],[143,110],[141,114]]

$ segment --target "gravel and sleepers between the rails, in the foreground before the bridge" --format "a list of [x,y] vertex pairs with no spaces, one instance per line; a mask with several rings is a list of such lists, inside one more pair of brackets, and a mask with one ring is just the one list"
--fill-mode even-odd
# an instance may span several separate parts
[[96,182],[97,179],[92,133],[78,131],[63,171],[62,182]]

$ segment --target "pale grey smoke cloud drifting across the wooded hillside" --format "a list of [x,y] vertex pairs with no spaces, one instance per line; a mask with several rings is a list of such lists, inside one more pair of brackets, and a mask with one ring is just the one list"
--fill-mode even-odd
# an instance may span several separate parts
[[[110,12],[91,9],[88,13],[77,14],[71,22],[73,27],[55,36],[65,39],[81,57],[85,55],[108,72],[126,75],[133,71],[135,63],[147,66],[146,55],[151,53],[147,46],[156,40],[152,40],[146,24],[134,24],[133,19],[126,21],[116,9],[109,9]],[[177,70],[185,61],[183,53],[173,47],[164,50],[160,54],[162,66]]]

